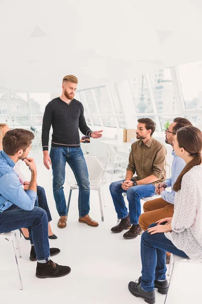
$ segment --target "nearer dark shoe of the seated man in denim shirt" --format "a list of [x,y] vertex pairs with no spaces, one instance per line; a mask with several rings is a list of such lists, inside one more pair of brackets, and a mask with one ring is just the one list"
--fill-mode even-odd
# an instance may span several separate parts
[[61,266],[49,260],[47,263],[38,263],[36,267],[36,277],[45,278],[60,278],[68,275],[71,271],[69,266]]

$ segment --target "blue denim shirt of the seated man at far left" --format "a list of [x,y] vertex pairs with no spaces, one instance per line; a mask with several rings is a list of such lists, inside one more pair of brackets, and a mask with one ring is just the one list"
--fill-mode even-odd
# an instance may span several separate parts
[[23,190],[14,166],[12,159],[0,151],[0,212],[13,204],[26,211],[34,208],[36,192]]

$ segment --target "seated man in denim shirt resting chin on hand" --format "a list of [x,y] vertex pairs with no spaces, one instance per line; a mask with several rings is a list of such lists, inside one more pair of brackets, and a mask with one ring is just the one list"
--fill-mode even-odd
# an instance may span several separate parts
[[[28,227],[32,247],[30,259],[37,260],[36,277],[62,277],[70,273],[70,268],[50,259],[60,249],[49,248],[47,214],[45,210],[34,207],[37,170],[34,159],[27,158],[33,138],[32,132],[23,129],[10,130],[3,138],[3,151],[0,151],[0,233]],[[26,193],[13,169],[20,160],[31,171]]]

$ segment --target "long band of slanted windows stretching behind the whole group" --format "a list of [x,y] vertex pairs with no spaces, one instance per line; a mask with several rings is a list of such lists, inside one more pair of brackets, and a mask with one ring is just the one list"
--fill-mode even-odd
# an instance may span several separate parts
[[[21,92],[0,88],[0,123],[11,128],[41,130],[46,104],[56,93]],[[122,83],[80,90],[87,125],[131,128],[134,120],[148,117],[156,131],[175,117],[185,117],[202,129],[202,62],[161,69]],[[95,129],[94,129],[95,130]],[[116,132],[116,131],[115,131]],[[112,134],[112,133],[110,133]]]

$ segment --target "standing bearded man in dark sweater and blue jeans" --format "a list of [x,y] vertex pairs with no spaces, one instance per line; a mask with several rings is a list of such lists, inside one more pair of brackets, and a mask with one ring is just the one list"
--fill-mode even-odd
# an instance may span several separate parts
[[[53,192],[56,207],[60,215],[59,228],[65,228],[67,223],[67,205],[63,191],[66,163],[71,167],[79,186],[78,208],[79,222],[97,227],[98,223],[88,215],[90,187],[88,170],[80,147],[79,131],[89,137],[102,137],[101,131],[91,131],[86,125],[84,108],[80,101],[74,98],[78,80],[74,75],[63,78],[62,95],[50,101],[44,111],[42,124],[43,164],[49,170],[53,169]],[[49,130],[53,127],[51,152],[48,155]]]

